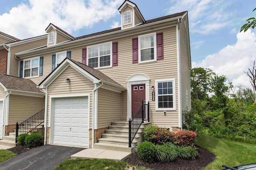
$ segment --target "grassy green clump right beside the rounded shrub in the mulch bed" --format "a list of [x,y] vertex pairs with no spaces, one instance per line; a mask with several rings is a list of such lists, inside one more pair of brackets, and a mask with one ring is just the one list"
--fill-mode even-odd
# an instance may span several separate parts
[[160,162],[171,162],[178,157],[176,146],[172,143],[156,145],[156,160]]

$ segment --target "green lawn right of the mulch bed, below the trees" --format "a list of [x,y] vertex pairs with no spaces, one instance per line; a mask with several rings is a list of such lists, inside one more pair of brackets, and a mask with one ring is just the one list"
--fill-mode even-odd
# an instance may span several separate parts
[[256,145],[226,141],[204,134],[198,135],[196,145],[216,155],[215,160],[204,170],[220,170],[222,164],[237,166],[256,162]]

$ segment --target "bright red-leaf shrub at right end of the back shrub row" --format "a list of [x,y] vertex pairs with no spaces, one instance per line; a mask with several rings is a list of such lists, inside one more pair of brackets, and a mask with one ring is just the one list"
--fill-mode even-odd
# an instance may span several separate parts
[[193,131],[178,131],[174,135],[174,144],[178,146],[193,147],[197,134]]

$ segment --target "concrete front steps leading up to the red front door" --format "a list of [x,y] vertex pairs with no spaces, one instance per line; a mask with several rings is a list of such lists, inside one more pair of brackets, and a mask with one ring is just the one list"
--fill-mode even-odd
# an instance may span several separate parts
[[144,127],[150,126],[150,122],[142,123],[136,136],[132,141],[132,147],[129,148],[129,122],[118,121],[111,123],[102,138],[98,139],[98,143],[94,143],[94,149],[116,150],[122,152],[134,152],[135,147],[142,143],[142,131]]

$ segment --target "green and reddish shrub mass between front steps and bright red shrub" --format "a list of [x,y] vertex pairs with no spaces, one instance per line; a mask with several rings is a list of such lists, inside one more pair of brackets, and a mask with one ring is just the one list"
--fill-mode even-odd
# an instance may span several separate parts
[[167,128],[162,128],[158,126],[149,126],[142,132],[145,141],[154,143],[155,145],[163,145],[167,142],[172,142],[174,133],[172,133]]

